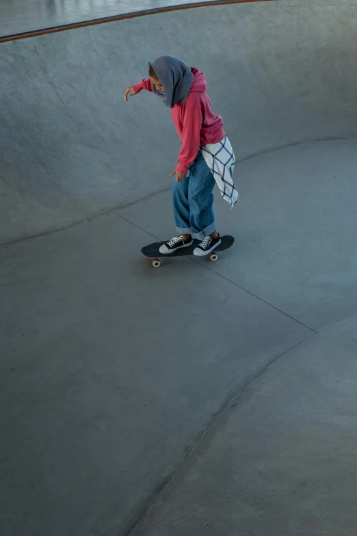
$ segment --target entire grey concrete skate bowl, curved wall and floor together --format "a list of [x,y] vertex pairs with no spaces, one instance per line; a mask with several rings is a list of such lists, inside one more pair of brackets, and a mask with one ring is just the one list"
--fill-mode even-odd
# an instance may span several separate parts
[[[356,12],[0,45],[1,536],[356,533]],[[239,157],[217,263],[140,257],[172,235],[179,144],[122,88],[160,51],[206,71]]]

